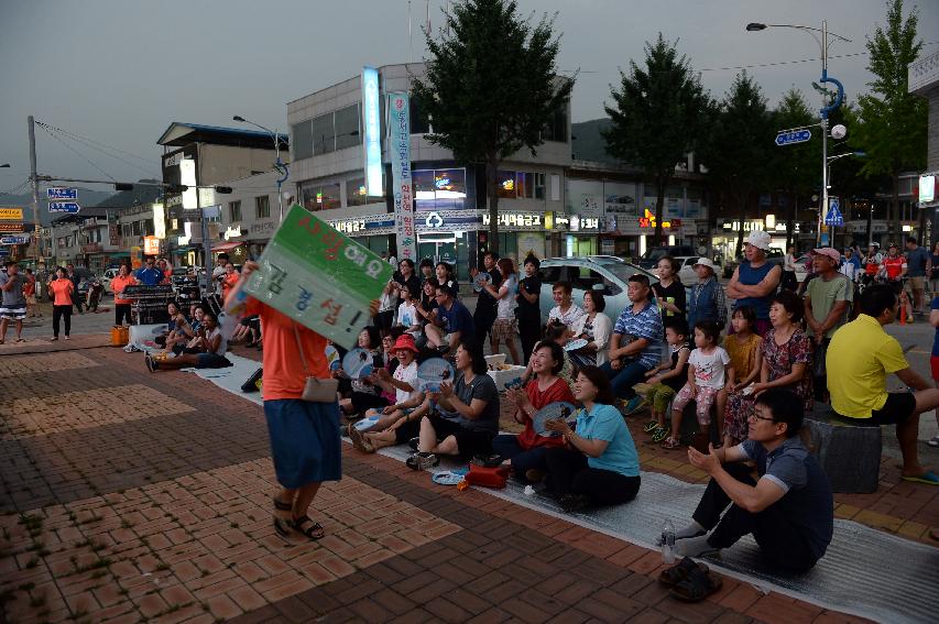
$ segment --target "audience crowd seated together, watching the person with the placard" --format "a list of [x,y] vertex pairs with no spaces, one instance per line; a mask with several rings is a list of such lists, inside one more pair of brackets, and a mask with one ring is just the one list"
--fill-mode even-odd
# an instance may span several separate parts
[[[534,256],[520,278],[511,259],[485,254],[485,278],[471,274],[479,286],[473,313],[449,264],[424,261],[415,271],[405,259],[358,337],[370,372],[349,375],[340,365],[330,373],[339,380],[343,430],[367,453],[410,445],[407,466],[415,470],[445,457],[498,456],[514,479],[576,512],[635,497],[640,460],[624,416],[647,405],[652,442],[688,446],[689,462],[711,478],[689,526],[676,535],[679,549],[697,556],[752,533],[769,559],[808,569],[825,554],[832,522],[828,481],[801,441],[816,401],[830,397],[848,422],[896,424],[903,479],[936,485],[939,478],[918,461],[916,434],[919,414],[939,406],[939,390],[910,370],[883,329],[897,315],[894,286],[871,283],[858,294],[841,253],[821,248],[812,251],[812,278],[800,296],[787,272],[767,261],[768,249],[768,234],[751,232],[725,287],[713,262],[699,259],[687,296],[676,261],[660,259],[657,283],[643,273],[629,278],[629,305],[610,310],[615,317],[608,316],[603,292],[575,302],[571,285],[557,282],[545,326]],[[230,274],[223,270],[221,281]],[[237,287],[232,280],[227,289]],[[723,336],[728,297],[734,304]],[[933,310],[939,327],[936,303]],[[173,306],[170,315],[165,346],[177,357],[148,359],[151,370],[205,365],[223,354],[214,315],[194,307],[187,319]],[[200,331],[193,327],[198,315]],[[505,344],[512,362],[525,366],[506,387],[488,374],[487,340],[492,353]],[[341,362],[345,350],[332,349]],[[435,358],[449,359],[456,373],[425,388],[418,368]],[[886,392],[889,373],[913,392]],[[503,402],[517,434],[500,433]],[[544,417],[558,403],[575,408]],[[692,435],[683,435],[689,422]],[[744,462],[755,463],[757,479]]]

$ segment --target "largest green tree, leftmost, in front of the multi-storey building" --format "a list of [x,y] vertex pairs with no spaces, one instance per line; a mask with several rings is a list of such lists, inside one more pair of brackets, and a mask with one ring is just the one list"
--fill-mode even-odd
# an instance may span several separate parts
[[490,247],[498,253],[499,166],[523,149],[536,153],[574,80],[557,76],[560,42],[547,15],[533,23],[513,0],[463,0],[446,21],[437,39],[426,33],[427,74],[413,80],[413,96],[433,120],[428,141],[459,162],[485,166]]

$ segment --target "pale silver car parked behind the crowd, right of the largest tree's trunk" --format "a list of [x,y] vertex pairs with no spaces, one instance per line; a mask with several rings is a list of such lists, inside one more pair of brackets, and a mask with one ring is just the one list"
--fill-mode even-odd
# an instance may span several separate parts
[[578,306],[583,304],[583,293],[598,289],[607,299],[605,314],[611,319],[619,316],[630,305],[626,295],[626,282],[636,273],[648,277],[649,284],[658,283],[654,273],[611,255],[588,255],[586,258],[549,258],[542,261],[542,294],[538,306],[542,318],[547,319],[555,300],[552,289],[555,282],[570,282],[571,298]]

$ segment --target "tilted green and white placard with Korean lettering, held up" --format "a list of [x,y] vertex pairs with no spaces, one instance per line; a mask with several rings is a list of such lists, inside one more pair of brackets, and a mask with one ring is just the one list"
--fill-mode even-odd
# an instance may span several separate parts
[[264,248],[245,289],[252,297],[351,349],[370,322],[369,304],[394,269],[298,205]]

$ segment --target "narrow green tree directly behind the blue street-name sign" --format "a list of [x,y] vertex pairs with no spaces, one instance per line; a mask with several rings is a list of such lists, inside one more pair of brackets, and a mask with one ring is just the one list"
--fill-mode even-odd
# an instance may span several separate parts
[[[786,91],[773,111],[773,122],[776,130],[788,130],[811,125],[817,120],[806,103],[802,92],[793,87]],[[798,220],[799,199],[811,194],[820,184],[821,145],[819,143],[820,141],[811,140],[775,149],[774,182],[789,197],[786,217],[786,248],[795,242],[793,229]]]

